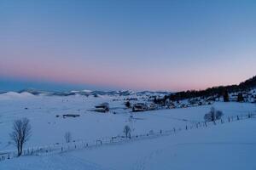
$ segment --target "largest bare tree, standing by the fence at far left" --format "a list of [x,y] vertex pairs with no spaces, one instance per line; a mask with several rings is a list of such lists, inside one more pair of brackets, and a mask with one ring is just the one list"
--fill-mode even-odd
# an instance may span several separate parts
[[16,120],[13,125],[13,132],[9,133],[11,140],[14,142],[18,156],[21,156],[23,145],[31,137],[32,128],[27,118]]

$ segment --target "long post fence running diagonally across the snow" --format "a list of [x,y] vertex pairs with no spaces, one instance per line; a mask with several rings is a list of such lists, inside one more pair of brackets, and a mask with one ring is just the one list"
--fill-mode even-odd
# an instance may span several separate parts
[[[189,131],[191,129],[199,129],[217,126],[224,123],[241,121],[249,118],[256,117],[256,114],[248,113],[246,115],[237,115],[237,116],[228,116],[214,122],[196,122],[191,125],[186,125],[185,127],[172,127],[169,130],[158,130],[153,131],[150,130],[148,133],[144,134],[133,134],[129,137],[125,136],[113,136],[113,137],[105,137],[94,140],[79,140],[73,141],[70,143],[62,143],[62,144],[49,144],[45,146],[38,147],[30,147],[26,148],[22,151],[22,156],[42,156],[42,155],[52,155],[56,153],[62,153],[72,150],[82,150],[82,149],[92,149],[96,147],[100,147],[102,145],[109,144],[123,144],[128,142],[134,142],[137,140],[143,139],[154,139],[160,136],[168,136],[175,133],[179,133],[181,131]],[[0,161],[5,161],[9,159],[13,159],[18,157],[18,152],[16,150],[6,150],[0,152]]]

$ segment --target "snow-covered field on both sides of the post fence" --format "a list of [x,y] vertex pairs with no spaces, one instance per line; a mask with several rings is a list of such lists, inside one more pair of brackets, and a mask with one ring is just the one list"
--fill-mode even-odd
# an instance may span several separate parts
[[[123,135],[125,125],[132,127],[132,134],[185,127],[203,122],[212,106],[223,111],[225,117],[256,111],[255,104],[216,102],[138,112],[130,119],[131,111],[125,109],[123,99],[107,95],[95,98],[0,94],[0,151],[15,149],[9,143],[9,133],[14,120],[20,117],[27,117],[32,124],[32,138],[25,146],[28,148],[64,143],[66,132],[78,141]],[[109,103],[109,113],[90,111],[102,102]],[[63,114],[80,116],[64,119]],[[256,120],[247,119],[128,144],[103,145],[52,156],[22,156],[0,162],[0,169],[255,169],[255,129]]]

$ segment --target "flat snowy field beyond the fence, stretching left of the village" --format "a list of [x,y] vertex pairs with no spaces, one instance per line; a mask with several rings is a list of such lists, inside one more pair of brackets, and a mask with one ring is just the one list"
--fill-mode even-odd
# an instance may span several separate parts
[[[113,101],[113,99],[115,99]],[[203,116],[212,105],[184,109],[145,111],[134,114],[125,110],[122,96],[34,96],[22,94],[0,95],[0,150],[13,150],[9,144],[9,133],[16,119],[27,117],[32,124],[32,138],[28,147],[44,146],[64,142],[64,134],[72,133],[73,140],[92,140],[123,135],[126,124],[132,127],[132,134],[148,133],[150,130],[170,130],[173,127],[185,127],[202,122]],[[110,104],[110,113],[90,111],[102,102]],[[224,116],[236,116],[255,111],[253,104],[215,103],[216,109]],[[26,109],[27,108],[27,109]],[[116,112],[117,114],[113,114]],[[77,118],[63,119],[63,114],[79,114]],[[59,115],[59,117],[56,117]]]

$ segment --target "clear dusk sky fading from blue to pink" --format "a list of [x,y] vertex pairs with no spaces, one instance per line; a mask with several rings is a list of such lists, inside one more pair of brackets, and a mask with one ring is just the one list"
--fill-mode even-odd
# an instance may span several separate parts
[[254,0],[0,0],[0,91],[204,89],[256,75]]

